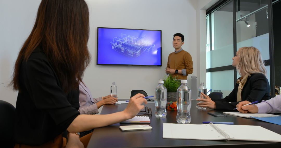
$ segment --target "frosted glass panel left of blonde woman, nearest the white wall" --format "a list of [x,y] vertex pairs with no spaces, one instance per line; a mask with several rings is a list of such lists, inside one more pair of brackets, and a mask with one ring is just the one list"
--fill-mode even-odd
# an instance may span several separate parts
[[[213,13],[207,15],[207,34],[209,42],[207,50],[207,89],[219,90],[227,96],[233,89],[234,68],[216,71],[232,64],[233,57],[233,2],[228,1]],[[207,41],[208,43],[208,41]],[[232,78],[231,78],[232,77]],[[227,81],[227,82],[226,82]]]

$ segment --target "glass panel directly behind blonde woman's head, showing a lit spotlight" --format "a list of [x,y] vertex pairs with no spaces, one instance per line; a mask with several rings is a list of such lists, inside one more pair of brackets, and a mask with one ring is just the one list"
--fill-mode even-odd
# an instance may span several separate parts
[[[268,0],[250,2],[240,0],[236,12],[237,50],[244,46],[256,47],[260,50],[264,61],[269,60],[268,2]],[[270,81],[270,66],[266,66],[266,69]]]

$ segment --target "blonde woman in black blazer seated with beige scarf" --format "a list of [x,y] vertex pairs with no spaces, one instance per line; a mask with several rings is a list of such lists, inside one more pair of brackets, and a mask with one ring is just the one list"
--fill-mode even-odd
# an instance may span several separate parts
[[203,103],[197,103],[198,106],[233,110],[240,101],[261,102],[270,99],[266,68],[260,51],[255,47],[241,47],[232,60],[232,66],[236,67],[241,75],[232,92],[225,99],[212,99],[202,94],[206,99],[196,99],[203,101]]

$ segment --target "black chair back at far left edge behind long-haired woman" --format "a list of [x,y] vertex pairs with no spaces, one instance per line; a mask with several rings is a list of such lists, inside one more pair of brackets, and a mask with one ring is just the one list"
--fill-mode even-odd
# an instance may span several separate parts
[[0,100],[0,142],[4,147],[14,147],[14,117],[15,107],[6,101]]

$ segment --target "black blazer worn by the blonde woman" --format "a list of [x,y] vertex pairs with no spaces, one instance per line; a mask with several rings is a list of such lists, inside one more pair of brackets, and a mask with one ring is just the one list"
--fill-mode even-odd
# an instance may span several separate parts
[[[240,79],[240,78],[238,78]],[[237,80],[238,80],[237,79]],[[236,83],[235,88],[224,99],[212,99],[216,103],[217,110],[233,110],[239,102],[237,101],[237,91],[239,84]],[[265,75],[262,73],[251,74],[241,92],[241,101],[259,101],[269,100],[269,83]]]

